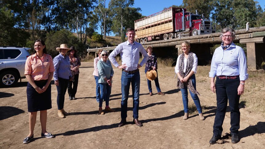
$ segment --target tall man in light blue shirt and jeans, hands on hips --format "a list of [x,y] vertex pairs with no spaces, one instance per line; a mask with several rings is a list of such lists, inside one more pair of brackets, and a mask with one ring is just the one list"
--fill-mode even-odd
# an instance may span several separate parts
[[[138,120],[138,110],[139,110],[139,92],[140,92],[140,73],[139,68],[145,65],[148,60],[148,55],[144,47],[134,41],[135,31],[133,28],[128,28],[126,31],[128,41],[119,44],[109,55],[109,60],[112,64],[122,69],[121,74],[121,122],[119,127],[126,124],[127,117],[127,101],[129,96],[130,84],[132,84],[133,90],[133,121],[137,126],[143,126]],[[143,55],[143,60],[140,65],[138,64],[140,59],[140,53]],[[121,64],[115,60],[115,57],[121,55]]]

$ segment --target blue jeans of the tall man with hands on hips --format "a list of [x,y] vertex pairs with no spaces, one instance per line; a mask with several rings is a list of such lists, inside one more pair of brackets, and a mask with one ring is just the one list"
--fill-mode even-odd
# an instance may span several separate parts
[[140,73],[139,71],[133,74],[122,71],[121,73],[121,118],[127,117],[127,103],[129,97],[130,84],[133,91],[133,118],[138,119],[139,110],[139,92],[140,92]]

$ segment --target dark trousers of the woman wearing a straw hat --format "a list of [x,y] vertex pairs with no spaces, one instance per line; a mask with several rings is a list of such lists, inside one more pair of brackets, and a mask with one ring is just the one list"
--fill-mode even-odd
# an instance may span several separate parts
[[64,108],[64,102],[65,102],[65,93],[68,87],[69,79],[63,79],[58,77],[59,85],[56,86],[57,88],[57,107],[58,110],[61,110]]

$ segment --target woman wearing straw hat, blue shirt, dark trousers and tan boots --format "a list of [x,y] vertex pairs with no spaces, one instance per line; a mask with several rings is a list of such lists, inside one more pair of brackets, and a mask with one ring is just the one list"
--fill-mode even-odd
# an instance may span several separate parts
[[69,80],[73,80],[71,69],[70,69],[70,58],[66,55],[67,48],[66,44],[61,44],[60,48],[56,48],[59,51],[59,55],[54,57],[54,84],[57,88],[57,106],[58,106],[58,116],[60,118],[65,118],[65,115],[69,115],[68,112],[64,110],[65,92],[68,87]]

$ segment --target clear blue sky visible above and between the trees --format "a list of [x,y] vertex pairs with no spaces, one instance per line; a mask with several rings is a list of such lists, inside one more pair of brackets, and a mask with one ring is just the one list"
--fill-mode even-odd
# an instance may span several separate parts
[[[109,1],[110,0],[106,0],[106,4],[108,4]],[[259,2],[259,5],[264,11],[265,0],[256,0],[256,1]],[[134,0],[134,5],[132,7],[140,7],[142,9],[140,13],[143,14],[144,16],[149,16],[151,14],[155,14],[159,11],[162,11],[163,8],[165,7],[169,7],[172,5],[179,6],[182,4],[182,2],[183,2],[182,0]],[[100,28],[97,30],[97,32],[99,33],[101,32]]]

